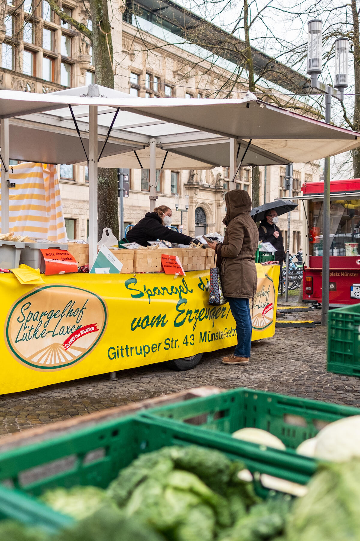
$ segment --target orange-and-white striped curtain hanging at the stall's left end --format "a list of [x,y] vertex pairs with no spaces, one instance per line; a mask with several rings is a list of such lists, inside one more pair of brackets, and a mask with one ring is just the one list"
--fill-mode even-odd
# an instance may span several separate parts
[[10,232],[67,242],[56,166],[23,162],[9,169],[10,182],[16,184],[9,188]]

